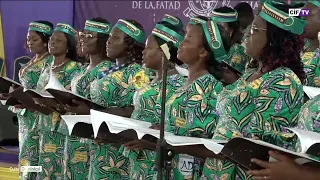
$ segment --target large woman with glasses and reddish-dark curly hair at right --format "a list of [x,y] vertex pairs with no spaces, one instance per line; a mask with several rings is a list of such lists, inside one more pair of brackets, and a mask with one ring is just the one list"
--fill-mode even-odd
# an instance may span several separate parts
[[[255,64],[236,83],[220,105],[213,139],[247,137],[261,140],[274,131],[297,125],[305,79],[300,52],[306,22],[289,17],[289,5],[266,1],[246,39],[246,53]],[[280,21],[280,19],[287,19]],[[269,143],[277,143],[270,142]],[[202,154],[206,154],[202,152]],[[248,179],[247,172],[212,153],[202,179]]]

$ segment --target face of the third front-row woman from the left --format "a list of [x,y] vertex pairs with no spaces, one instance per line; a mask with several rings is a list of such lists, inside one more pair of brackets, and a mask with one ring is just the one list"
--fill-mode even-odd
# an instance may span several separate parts
[[96,54],[98,52],[98,33],[84,30],[81,39],[82,53]]

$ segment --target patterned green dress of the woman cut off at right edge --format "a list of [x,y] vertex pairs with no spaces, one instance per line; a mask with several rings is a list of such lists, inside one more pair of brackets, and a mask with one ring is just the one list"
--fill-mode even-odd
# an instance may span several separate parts
[[301,60],[307,75],[304,85],[320,87],[320,49],[317,48],[314,52],[305,52],[301,56]]

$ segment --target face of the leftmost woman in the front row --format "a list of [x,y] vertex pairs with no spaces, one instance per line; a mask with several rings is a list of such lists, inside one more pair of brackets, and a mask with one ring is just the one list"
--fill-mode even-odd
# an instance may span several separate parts
[[27,34],[27,48],[31,53],[43,53],[47,51],[47,44],[41,40],[41,37],[35,31],[29,31]]

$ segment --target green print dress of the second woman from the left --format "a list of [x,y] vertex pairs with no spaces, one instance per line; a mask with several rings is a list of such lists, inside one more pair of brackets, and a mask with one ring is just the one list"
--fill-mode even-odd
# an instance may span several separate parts
[[[52,62],[53,59],[51,59],[40,75],[37,86],[37,90],[40,92],[44,90],[49,82]],[[56,72],[56,77],[67,90],[70,90],[71,79],[77,75],[79,71],[79,64],[74,61],[69,61],[59,72]],[[63,178],[65,136],[57,132],[60,123],[61,118],[58,112],[53,112],[50,115],[41,114],[39,119],[39,127],[41,130],[39,138],[39,166],[42,166],[42,172],[38,173],[38,179]]]

